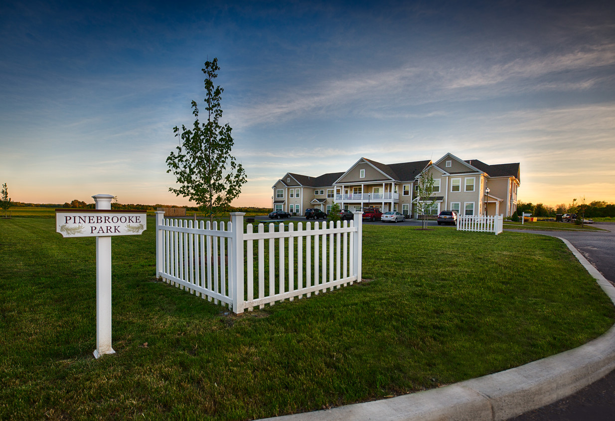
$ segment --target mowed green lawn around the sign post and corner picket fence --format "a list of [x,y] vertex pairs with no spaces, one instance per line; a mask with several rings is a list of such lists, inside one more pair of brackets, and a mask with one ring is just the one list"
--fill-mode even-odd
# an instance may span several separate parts
[[154,278],[153,219],[113,238],[95,360],[95,241],[0,220],[0,419],[255,419],[400,395],[577,347],[613,305],[557,239],[364,226],[368,281],[227,315]]

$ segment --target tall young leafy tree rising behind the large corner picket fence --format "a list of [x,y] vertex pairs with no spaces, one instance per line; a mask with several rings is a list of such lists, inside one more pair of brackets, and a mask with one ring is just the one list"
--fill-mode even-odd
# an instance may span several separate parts
[[205,110],[207,122],[199,122],[199,108],[192,101],[195,117],[192,129],[183,124],[180,129],[173,127],[173,133],[180,138],[177,154],[171,152],[167,158],[169,169],[177,178],[179,188],[169,188],[177,196],[196,202],[199,211],[207,212],[209,220],[231,205],[241,193],[241,186],[247,182],[244,167],[237,164],[231,155],[234,145],[231,126],[220,125],[220,106],[224,89],[214,87],[213,81],[220,70],[218,58],[205,62]]

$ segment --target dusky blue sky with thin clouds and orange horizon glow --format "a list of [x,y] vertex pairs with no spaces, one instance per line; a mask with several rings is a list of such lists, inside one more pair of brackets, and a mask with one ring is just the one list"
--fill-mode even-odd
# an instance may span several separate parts
[[188,204],[165,159],[213,57],[236,205],[286,172],[446,152],[520,162],[522,201],[615,201],[613,1],[4,1],[0,34],[14,201]]

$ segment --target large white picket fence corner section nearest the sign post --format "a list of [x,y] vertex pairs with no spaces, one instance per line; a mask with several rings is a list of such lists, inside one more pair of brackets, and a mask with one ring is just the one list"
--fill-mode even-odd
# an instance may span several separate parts
[[335,227],[269,223],[265,230],[260,223],[245,233],[244,215],[212,227],[156,212],[157,278],[236,314],[361,280],[362,212]]

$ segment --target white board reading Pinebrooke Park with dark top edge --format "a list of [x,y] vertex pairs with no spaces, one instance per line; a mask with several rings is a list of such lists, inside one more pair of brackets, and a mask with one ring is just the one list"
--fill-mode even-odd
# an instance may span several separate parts
[[147,228],[145,211],[56,209],[55,230],[63,237],[137,235]]

